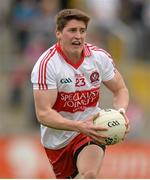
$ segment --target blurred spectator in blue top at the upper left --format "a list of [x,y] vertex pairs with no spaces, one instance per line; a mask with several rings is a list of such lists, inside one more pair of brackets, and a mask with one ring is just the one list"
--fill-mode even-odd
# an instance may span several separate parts
[[27,46],[30,27],[37,13],[35,0],[16,0],[13,4],[12,25],[21,52]]

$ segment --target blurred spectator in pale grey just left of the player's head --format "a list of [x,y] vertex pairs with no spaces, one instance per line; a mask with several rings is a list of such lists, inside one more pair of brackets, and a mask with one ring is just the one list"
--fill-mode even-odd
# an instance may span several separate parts
[[40,0],[39,13],[32,22],[30,38],[38,37],[43,39],[48,46],[55,42],[55,14],[59,9],[58,0]]

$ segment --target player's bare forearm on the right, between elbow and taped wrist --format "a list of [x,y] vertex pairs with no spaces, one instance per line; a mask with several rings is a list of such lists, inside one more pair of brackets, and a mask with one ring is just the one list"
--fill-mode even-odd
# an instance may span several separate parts
[[127,88],[120,89],[113,98],[113,106],[115,109],[124,108],[127,110],[129,104],[129,92]]

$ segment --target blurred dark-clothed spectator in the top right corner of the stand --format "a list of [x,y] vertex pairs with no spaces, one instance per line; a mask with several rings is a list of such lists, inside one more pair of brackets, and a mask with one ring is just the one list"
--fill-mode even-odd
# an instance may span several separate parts
[[120,18],[135,33],[135,58],[148,60],[150,58],[150,1],[122,0]]

